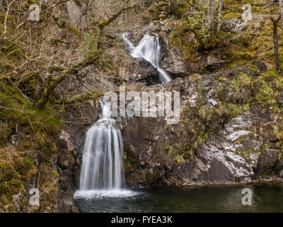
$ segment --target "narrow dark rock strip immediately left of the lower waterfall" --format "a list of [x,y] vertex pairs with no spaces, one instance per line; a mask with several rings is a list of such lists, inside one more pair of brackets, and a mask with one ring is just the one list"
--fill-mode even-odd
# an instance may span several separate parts
[[79,212],[74,191],[79,188],[80,166],[85,131],[98,119],[98,108],[85,101],[80,108],[69,106],[65,115],[64,131],[58,138],[57,168],[59,173],[58,210]]

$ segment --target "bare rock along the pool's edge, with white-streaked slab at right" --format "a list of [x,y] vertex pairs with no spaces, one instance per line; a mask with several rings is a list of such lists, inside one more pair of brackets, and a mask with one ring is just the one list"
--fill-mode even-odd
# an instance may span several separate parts
[[[279,165],[279,154],[282,151],[268,149],[259,153],[260,145],[266,142],[266,138],[254,135],[253,130],[258,123],[262,127],[270,123],[272,119],[269,116],[260,117],[257,111],[247,111],[231,119],[224,126],[224,131],[209,137],[197,148],[194,159],[183,163],[172,162],[178,154],[168,155],[162,148],[156,148],[155,143],[151,143],[151,147],[144,149],[143,145],[147,140],[154,141],[151,136],[156,135],[156,132],[150,131],[154,124],[150,120],[132,121],[124,134],[125,150],[129,155],[126,162],[128,166],[132,165],[132,169],[126,171],[127,183],[130,186],[151,185],[158,181],[158,183],[161,181],[162,184],[173,186],[237,184],[252,182],[260,175],[279,175],[282,171],[282,166],[280,169]],[[133,122],[135,127],[132,126]],[[147,129],[144,130],[145,128]],[[175,130],[180,128],[177,126]],[[164,145],[163,148],[166,148],[166,142],[180,140],[180,137],[170,140],[162,133],[156,135],[157,137],[159,137],[158,140],[167,138],[166,141],[161,142]],[[237,140],[241,140],[241,144],[235,144]],[[237,150],[246,150],[245,142],[248,142],[250,152],[255,153],[248,153],[246,156],[236,153]]]

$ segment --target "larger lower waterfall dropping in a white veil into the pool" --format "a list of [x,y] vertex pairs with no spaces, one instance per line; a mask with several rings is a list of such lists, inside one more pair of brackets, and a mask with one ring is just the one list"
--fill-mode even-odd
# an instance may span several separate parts
[[100,119],[86,133],[80,190],[120,189],[124,171],[123,141],[115,128],[110,101],[100,101]]

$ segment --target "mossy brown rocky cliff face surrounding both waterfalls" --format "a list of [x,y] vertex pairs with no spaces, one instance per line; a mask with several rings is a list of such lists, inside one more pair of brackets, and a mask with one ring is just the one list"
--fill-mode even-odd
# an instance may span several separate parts
[[[85,133],[98,120],[98,99],[105,92],[118,92],[120,85],[132,92],[178,91],[181,98],[180,122],[175,125],[163,117],[117,118],[128,187],[282,180],[283,80],[274,67],[271,33],[262,29],[266,24],[272,28],[266,15],[243,23],[238,14],[229,18],[231,13],[224,12],[221,33],[209,38],[203,11],[187,2],[175,13],[162,1],[146,6],[129,13],[134,24],[121,18],[122,26],[117,23],[103,31],[93,26],[103,16],[93,22],[90,5],[69,1],[54,13],[50,49],[71,52],[75,46],[71,57],[78,62],[98,57],[54,89],[50,105],[56,111],[50,106],[35,111],[15,89],[0,88],[1,106],[16,110],[0,112],[0,211],[78,211],[74,191],[79,187]],[[159,84],[149,62],[129,55],[123,34],[134,45],[144,34],[158,36],[160,66],[173,81]],[[8,48],[1,49],[1,56]],[[73,65],[73,58],[64,57],[68,67]],[[64,64],[61,55],[58,59],[57,65]],[[42,81],[47,78],[42,76]],[[35,82],[30,86],[36,87]],[[83,99],[72,99],[81,94]],[[23,158],[25,153],[30,155]],[[27,199],[32,187],[50,188],[35,210]]]

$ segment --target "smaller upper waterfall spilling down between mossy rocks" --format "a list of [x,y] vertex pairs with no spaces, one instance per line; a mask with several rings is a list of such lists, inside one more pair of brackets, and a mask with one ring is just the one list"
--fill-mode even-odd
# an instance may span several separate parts
[[168,73],[161,69],[159,66],[160,55],[161,55],[161,46],[159,44],[159,38],[151,35],[144,35],[139,41],[139,45],[136,47],[127,39],[127,35],[122,35],[122,38],[125,40],[127,45],[129,45],[130,55],[134,58],[143,58],[156,67],[160,74],[161,82],[166,84],[171,81],[171,77]]

